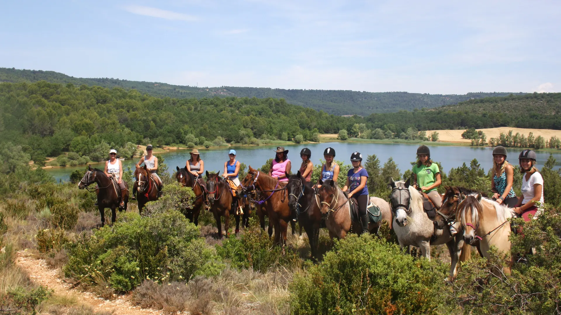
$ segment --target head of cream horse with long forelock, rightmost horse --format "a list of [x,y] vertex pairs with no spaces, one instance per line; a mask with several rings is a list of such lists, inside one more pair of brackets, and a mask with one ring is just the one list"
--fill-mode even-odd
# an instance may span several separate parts
[[463,240],[468,244],[473,244],[477,238],[477,228],[479,228],[483,207],[481,206],[481,193],[466,196],[460,193],[462,202],[458,205],[456,217],[463,228]]

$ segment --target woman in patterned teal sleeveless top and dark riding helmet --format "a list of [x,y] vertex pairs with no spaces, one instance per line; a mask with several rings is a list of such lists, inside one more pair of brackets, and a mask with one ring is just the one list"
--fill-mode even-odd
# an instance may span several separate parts
[[512,165],[507,161],[507,149],[498,146],[493,149],[493,180],[491,180],[491,191],[493,199],[514,208],[518,203],[516,193],[512,189],[514,171]]

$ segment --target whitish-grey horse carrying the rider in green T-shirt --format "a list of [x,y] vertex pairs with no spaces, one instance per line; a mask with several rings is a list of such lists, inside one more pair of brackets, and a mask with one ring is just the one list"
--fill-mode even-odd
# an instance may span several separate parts
[[[430,260],[430,245],[446,244],[451,258],[450,279],[453,279],[457,273],[458,261],[470,258],[471,247],[464,244],[459,233],[452,237],[449,229],[435,228],[435,224],[423,209],[421,193],[410,186],[410,179],[407,179],[407,182],[394,182],[392,179],[389,184],[392,188],[392,211],[396,218],[393,230],[399,245],[402,248],[407,247],[407,252],[410,245],[419,247],[422,256]],[[464,250],[466,252],[461,254]]]

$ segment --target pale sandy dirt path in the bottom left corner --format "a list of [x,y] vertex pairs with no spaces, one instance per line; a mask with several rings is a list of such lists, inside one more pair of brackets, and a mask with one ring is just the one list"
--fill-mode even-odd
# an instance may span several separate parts
[[59,277],[59,271],[51,269],[42,259],[36,259],[23,251],[18,253],[16,266],[25,270],[33,281],[40,285],[47,286],[57,295],[75,296],[78,304],[90,305],[95,311],[114,311],[114,315],[144,315],[144,314],[163,314],[162,311],[154,309],[142,309],[128,302],[126,296],[115,300],[104,300],[96,297],[95,294],[71,289],[70,285]]

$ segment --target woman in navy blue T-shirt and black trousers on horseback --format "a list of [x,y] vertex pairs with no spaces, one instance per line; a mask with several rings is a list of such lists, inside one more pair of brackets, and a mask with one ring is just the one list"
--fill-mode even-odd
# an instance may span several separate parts
[[362,154],[360,152],[351,154],[351,163],[353,168],[347,172],[347,182],[342,190],[348,191],[348,197],[353,198],[358,205],[362,233],[365,233],[368,232],[368,214],[366,213],[366,207],[368,206],[368,187],[366,187],[368,172],[362,168]]

